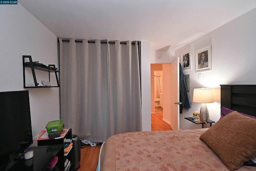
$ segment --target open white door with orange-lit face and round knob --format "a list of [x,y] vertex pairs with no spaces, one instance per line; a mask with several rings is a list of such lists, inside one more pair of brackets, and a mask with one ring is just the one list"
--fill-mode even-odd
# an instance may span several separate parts
[[[171,64],[163,64],[163,120],[169,123],[172,130],[180,129],[180,82],[179,58]],[[176,104],[174,104],[176,103]]]

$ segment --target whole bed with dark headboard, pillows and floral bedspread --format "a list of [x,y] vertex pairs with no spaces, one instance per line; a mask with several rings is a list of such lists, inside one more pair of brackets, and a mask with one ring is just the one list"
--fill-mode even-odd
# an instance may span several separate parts
[[[253,171],[256,85],[221,85],[221,118],[210,128],[110,137],[99,171]],[[248,162],[250,161],[250,162]]]

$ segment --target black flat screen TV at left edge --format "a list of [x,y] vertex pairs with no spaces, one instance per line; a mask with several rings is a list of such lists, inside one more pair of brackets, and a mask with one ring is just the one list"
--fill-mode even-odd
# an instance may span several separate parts
[[0,170],[32,143],[28,90],[0,92]]

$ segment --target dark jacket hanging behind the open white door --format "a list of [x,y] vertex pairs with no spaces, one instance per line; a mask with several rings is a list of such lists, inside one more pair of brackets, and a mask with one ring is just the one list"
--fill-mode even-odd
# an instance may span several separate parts
[[182,104],[180,105],[180,113],[182,113],[183,107],[185,109],[188,109],[191,107],[188,100],[187,87],[186,87],[185,77],[184,77],[181,64],[180,64],[180,102],[182,102]]

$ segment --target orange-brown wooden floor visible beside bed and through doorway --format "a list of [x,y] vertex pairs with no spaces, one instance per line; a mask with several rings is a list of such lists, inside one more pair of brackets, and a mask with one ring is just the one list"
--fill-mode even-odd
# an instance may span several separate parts
[[[172,130],[171,126],[162,120],[163,113],[160,107],[156,107],[155,114],[151,115],[152,131]],[[91,147],[90,145],[81,148],[81,160],[79,171],[96,171],[101,145]]]

